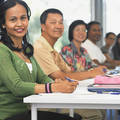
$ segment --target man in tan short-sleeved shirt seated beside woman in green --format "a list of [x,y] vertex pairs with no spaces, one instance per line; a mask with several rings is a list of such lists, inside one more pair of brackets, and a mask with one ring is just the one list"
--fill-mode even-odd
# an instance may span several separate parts
[[[91,71],[73,72],[60,54],[54,50],[53,46],[58,38],[62,36],[64,30],[61,11],[53,8],[45,10],[40,16],[40,22],[42,35],[34,43],[34,56],[47,75],[53,79],[65,79],[67,76],[76,80],[83,80],[104,74],[103,66],[94,68]],[[66,113],[66,111],[64,112]],[[79,114],[83,117],[83,120],[101,120],[103,118],[99,110],[79,110]]]

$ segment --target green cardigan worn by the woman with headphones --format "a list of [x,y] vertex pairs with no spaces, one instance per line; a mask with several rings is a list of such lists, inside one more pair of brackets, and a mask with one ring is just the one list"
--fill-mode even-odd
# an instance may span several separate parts
[[35,83],[52,82],[33,57],[30,61],[32,73],[22,59],[0,43],[0,120],[28,111],[23,97],[34,94]]

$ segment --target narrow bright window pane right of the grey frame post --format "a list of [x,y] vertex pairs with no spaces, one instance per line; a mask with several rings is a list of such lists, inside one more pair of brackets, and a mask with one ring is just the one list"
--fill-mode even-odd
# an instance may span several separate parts
[[106,0],[106,32],[120,33],[120,0]]

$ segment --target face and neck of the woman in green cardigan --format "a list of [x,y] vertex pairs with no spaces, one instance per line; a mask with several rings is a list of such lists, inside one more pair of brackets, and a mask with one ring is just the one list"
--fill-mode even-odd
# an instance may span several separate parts
[[26,34],[28,27],[28,17],[25,7],[16,4],[16,6],[9,8],[6,11],[5,19],[6,22],[3,24],[3,28],[6,29],[8,36],[14,42],[14,46],[22,48],[22,38]]

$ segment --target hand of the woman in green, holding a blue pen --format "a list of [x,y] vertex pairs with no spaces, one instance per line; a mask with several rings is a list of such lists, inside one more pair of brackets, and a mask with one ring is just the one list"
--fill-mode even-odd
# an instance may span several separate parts
[[78,85],[78,81],[69,82],[56,79],[51,85],[52,92],[72,93]]

